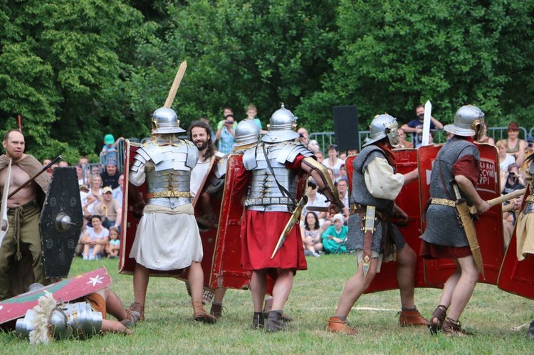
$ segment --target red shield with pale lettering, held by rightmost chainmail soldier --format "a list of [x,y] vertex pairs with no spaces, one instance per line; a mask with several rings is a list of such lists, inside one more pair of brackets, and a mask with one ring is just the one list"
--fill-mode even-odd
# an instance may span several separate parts
[[[501,183],[498,167],[498,152],[490,144],[476,144],[480,151],[481,176],[478,180],[477,191],[481,198],[489,200],[501,196]],[[429,197],[429,181],[432,165],[439,149],[435,147],[419,148],[419,173],[426,175],[426,184],[421,186],[421,196],[426,201]],[[421,179],[424,182],[424,179]],[[501,205],[493,206],[490,211],[475,221],[478,243],[481,248],[482,260],[486,279],[480,276],[479,282],[497,285],[498,273],[504,258],[503,246],[503,218]],[[456,270],[454,260],[424,260],[426,282],[429,285],[438,285]]]

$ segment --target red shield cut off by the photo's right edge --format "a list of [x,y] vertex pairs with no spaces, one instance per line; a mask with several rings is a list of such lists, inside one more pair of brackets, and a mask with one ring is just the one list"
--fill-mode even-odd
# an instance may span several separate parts
[[[525,199],[530,195],[530,189],[527,188],[523,198],[523,208],[525,208]],[[522,208],[522,210],[523,210]],[[534,218],[534,213],[529,214],[528,218]],[[534,300],[534,256],[519,261],[517,258],[517,226],[513,230],[510,245],[506,250],[506,255],[501,266],[497,286],[501,290],[513,293]],[[529,233],[533,233],[529,231]]]

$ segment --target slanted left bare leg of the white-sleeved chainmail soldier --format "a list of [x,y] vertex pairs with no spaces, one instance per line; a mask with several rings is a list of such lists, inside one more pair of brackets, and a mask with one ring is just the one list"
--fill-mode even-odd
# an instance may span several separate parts
[[367,287],[369,287],[372,280],[375,278],[377,263],[377,258],[371,259],[367,277],[363,277],[362,263],[358,264],[358,270],[356,270],[355,275],[350,277],[345,284],[340,302],[337,304],[337,309],[335,310],[336,317],[347,317],[352,306],[354,306],[355,302],[360,298],[363,292],[367,290]]

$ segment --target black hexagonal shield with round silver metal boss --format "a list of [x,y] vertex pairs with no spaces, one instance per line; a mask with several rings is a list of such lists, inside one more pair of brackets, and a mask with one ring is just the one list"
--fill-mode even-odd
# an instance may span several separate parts
[[76,169],[56,168],[39,218],[46,277],[67,277],[82,226]]

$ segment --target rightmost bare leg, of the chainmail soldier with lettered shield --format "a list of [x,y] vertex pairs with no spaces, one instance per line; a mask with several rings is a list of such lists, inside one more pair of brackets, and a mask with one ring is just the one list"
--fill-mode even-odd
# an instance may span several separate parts
[[451,307],[449,307],[449,318],[454,320],[458,320],[461,312],[464,312],[478,281],[478,269],[472,255],[459,258],[458,263],[461,267],[461,276],[452,292]]

